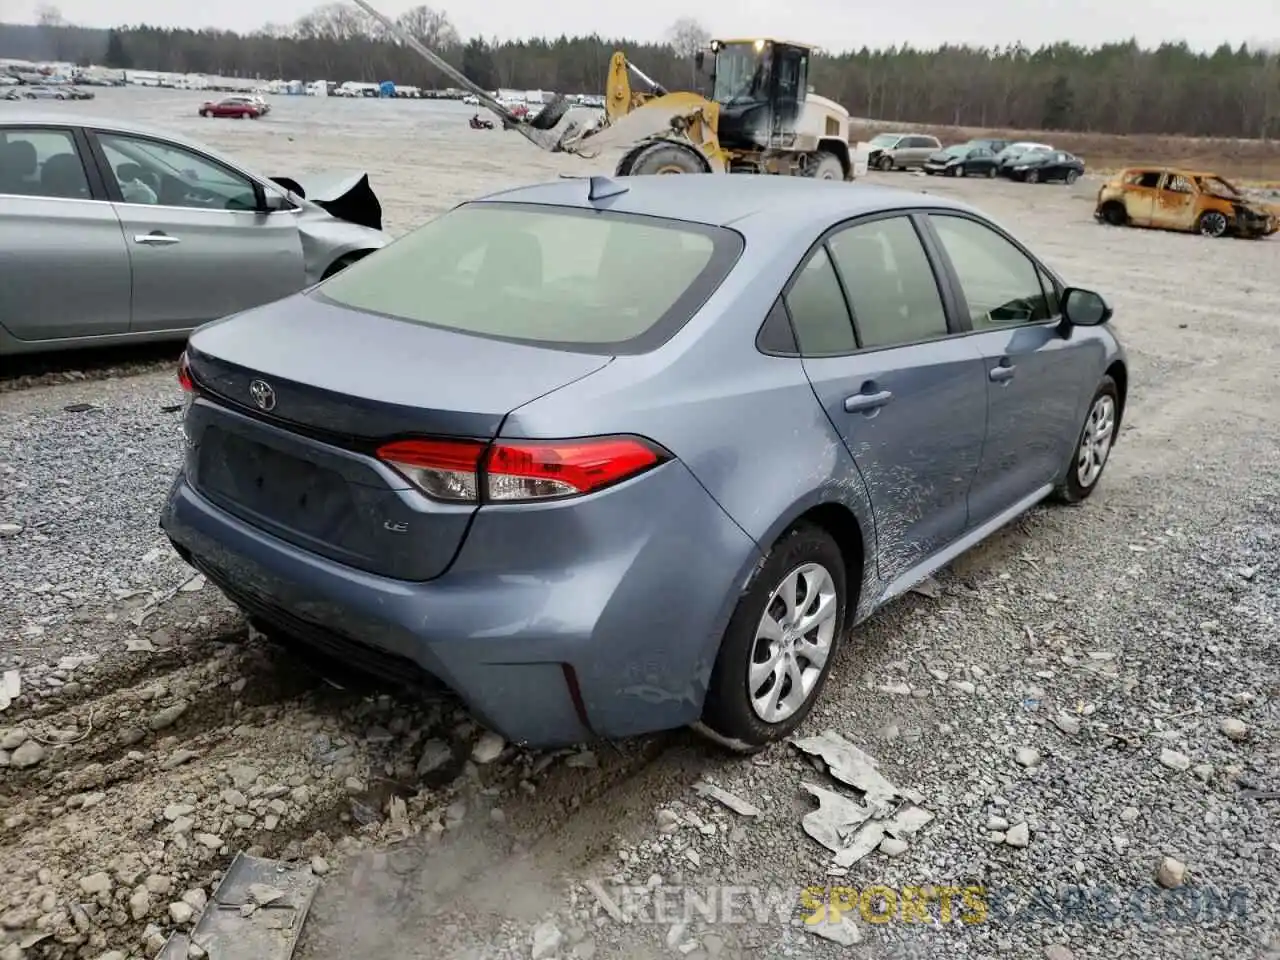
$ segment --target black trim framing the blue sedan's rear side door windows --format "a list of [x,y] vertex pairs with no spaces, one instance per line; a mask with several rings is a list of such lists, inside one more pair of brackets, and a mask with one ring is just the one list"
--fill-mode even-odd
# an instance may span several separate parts
[[[966,326],[965,323],[968,320],[968,307],[964,306],[964,301],[956,301],[955,298],[955,285],[952,282],[950,265],[942,260],[943,253],[938,247],[937,236],[933,234],[932,229],[929,229],[928,225],[928,215],[931,212],[947,212],[947,211],[948,209],[946,207],[929,207],[929,206],[897,207],[895,210],[877,210],[869,214],[860,214],[858,216],[851,216],[846,220],[841,220],[840,223],[829,225],[826,230],[822,232],[818,239],[815,239],[813,243],[809,244],[809,248],[805,250],[804,256],[800,257],[800,262],[791,271],[791,275],[782,284],[782,291],[778,293],[778,297],[782,300],[782,305],[787,311],[787,319],[791,320],[791,338],[796,344],[796,352],[781,353],[777,351],[765,351],[760,347],[760,339],[764,324],[769,321],[769,315],[773,312],[772,306],[769,307],[769,312],[765,314],[765,317],[760,324],[760,330],[756,332],[755,335],[756,349],[759,349],[765,356],[772,356],[772,357],[803,357],[805,360],[829,360],[833,357],[852,357],[864,353],[878,353],[886,349],[901,349],[904,347],[916,347],[924,343],[938,343],[941,340],[946,340],[952,337],[963,337],[970,333],[972,329]],[[860,227],[863,224],[876,223],[877,220],[887,220],[890,218],[899,218],[899,216],[906,218],[911,223],[913,228],[915,229],[915,234],[920,241],[920,246],[924,250],[924,257],[929,264],[929,270],[933,273],[933,282],[934,285],[937,287],[938,297],[942,301],[942,314],[947,321],[947,332],[942,337],[929,337],[928,339],[923,340],[890,343],[883,347],[863,347],[861,333],[859,332],[856,320],[854,317],[852,305],[849,302],[849,293],[845,287],[845,279],[840,273],[840,264],[836,262],[836,257],[832,256],[831,253],[831,250],[828,247],[828,241],[837,233],[842,233],[844,230],[851,229],[854,227]],[[791,293],[791,289],[799,280],[800,274],[804,273],[805,268],[809,266],[809,261],[813,260],[814,256],[817,256],[819,250],[826,252],[827,259],[831,261],[831,266],[836,273],[836,280],[840,283],[840,293],[845,301],[845,314],[849,317],[850,326],[852,326],[854,343],[856,344],[851,351],[840,351],[836,353],[805,353],[803,346],[800,344],[800,337],[796,334],[795,330],[795,320],[791,319],[791,305],[788,302],[788,296]]]

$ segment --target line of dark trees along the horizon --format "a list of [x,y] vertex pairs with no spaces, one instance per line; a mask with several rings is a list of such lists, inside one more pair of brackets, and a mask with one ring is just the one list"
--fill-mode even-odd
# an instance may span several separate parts
[[[0,24],[0,56],[105,63],[115,68],[227,77],[451,86],[358,8],[319,6],[296,23],[252,33],[133,26],[90,29],[45,8],[35,26]],[[696,20],[673,24],[664,42],[599,36],[498,42],[463,40],[443,12],[417,6],[399,22],[476,83],[564,93],[602,93],[609,55],[625,50],[671,88],[705,90],[694,51],[707,41]],[[1134,41],[1036,50],[943,46],[861,49],[814,58],[810,83],[873,120],[965,127],[1280,136],[1280,51],[1240,45],[1212,52]]]

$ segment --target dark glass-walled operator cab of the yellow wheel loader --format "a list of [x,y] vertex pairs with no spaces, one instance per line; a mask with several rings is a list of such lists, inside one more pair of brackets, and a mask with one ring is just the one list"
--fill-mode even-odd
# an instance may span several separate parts
[[809,88],[813,47],[781,40],[713,40],[718,136],[733,150],[787,148]]

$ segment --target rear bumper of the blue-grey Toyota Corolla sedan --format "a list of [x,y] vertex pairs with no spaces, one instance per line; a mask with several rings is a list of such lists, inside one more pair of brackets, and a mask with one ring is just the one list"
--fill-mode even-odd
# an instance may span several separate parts
[[698,719],[759,559],[678,462],[572,507],[481,508],[453,566],[426,582],[288,544],[183,475],[160,525],[265,626],[367,673],[439,681],[485,726],[539,748]]

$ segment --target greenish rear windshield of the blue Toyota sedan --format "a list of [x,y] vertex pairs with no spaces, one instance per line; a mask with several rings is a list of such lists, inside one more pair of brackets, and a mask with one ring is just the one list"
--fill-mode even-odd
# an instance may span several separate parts
[[721,227],[467,204],[353,264],[311,296],[480,337],[643,353],[689,321],[741,251],[741,237]]

